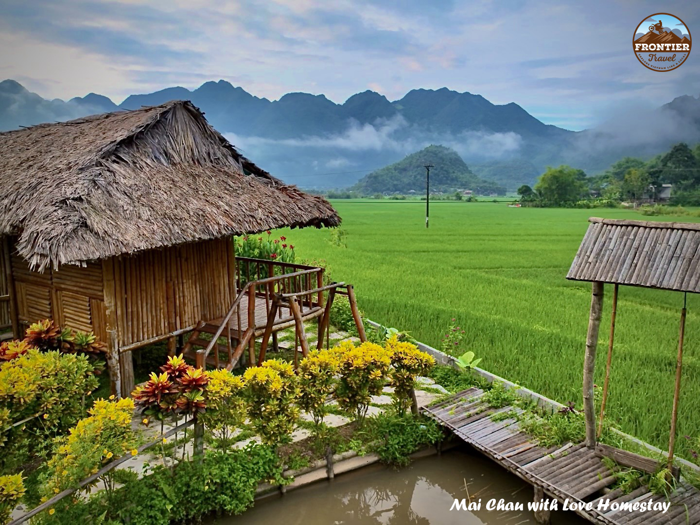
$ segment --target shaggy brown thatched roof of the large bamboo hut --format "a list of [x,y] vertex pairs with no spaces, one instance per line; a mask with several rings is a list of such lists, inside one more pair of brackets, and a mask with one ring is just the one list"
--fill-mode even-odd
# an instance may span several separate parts
[[336,226],[322,197],[242,157],[191,102],[0,133],[0,235],[32,267],[283,226]]

